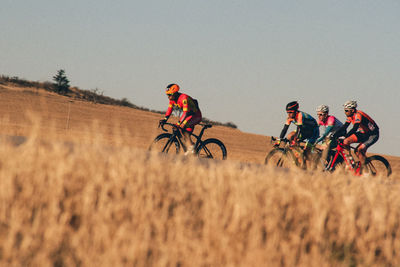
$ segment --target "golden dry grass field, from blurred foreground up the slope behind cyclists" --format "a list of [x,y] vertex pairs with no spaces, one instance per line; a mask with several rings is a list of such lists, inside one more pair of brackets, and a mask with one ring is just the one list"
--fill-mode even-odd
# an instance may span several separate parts
[[[390,179],[148,153],[162,117],[0,85],[0,266],[400,266]],[[11,138],[10,136],[25,136]]]

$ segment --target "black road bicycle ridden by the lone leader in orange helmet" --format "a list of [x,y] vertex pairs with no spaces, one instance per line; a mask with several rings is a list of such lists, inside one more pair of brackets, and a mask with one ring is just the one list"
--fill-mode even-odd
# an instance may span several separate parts
[[[168,132],[168,130],[164,128],[165,125],[171,126],[172,131]],[[215,138],[209,138],[204,141],[201,139],[204,131],[208,128],[211,128],[212,125],[199,124],[199,126],[202,126],[199,135],[190,133],[190,136],[196,139],[194,145],[194,154],[199,158],[225,160],[227,158],[227,151],[224,143]],[[181,129],[179,126],[168,122],[159,124],[158,127],[161,127],[163,131],[168,133],[159,134],[150,145],[149,150],[174,154],[179,154],[181,150],[183,150],[183,152],[187,151],[186,145],[184,142],[182,142],[183,136],[181,131],[185,131],[184,129]]]

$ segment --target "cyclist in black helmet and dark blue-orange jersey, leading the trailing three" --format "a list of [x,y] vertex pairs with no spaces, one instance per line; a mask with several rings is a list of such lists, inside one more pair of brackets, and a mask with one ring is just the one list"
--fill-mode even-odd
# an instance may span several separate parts
[[308,113],[299,110],[299,103],[292,101],[286,105],[286,113],[288,114],[285,125],[275,145],[279,145],[280,139],[284,138],[291,123],[297,126],[296,130],[288,134],[288,139],[292,143],[307,140],[307,145],[304,148],[305,159],[311,151],[312,145],[319,137],[319,127],[317,121]]

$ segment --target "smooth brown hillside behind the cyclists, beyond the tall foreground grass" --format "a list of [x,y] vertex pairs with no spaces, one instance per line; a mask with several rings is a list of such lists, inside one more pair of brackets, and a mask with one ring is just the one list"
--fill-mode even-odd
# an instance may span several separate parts
[[[163,117],[147,111],[94,104],[36,88],[10,85],[0,85],[0,114],[0,134],[3,135],[28,135],[34,121],[39,119],[38,131],[44,138],[85,139],[87,129],[95,127],[106,140],[113,140],[119,132],[124,136],[125,144],[142,149],[146,149],[161,132],[157,123]],[[269,137],[228,127],[214,126],[207,130],[206,137],[223,141],[229,160],[262,163],[271,149]],[[400,158],[388,156],[388,159],[395,172],[400,170]]]

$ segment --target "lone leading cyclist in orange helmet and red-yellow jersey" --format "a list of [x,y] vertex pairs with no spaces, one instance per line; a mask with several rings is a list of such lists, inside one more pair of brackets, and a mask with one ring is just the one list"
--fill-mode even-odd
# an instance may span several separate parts
[[160,124],[167,122],[174,107],[182,110],[183,113],[176,125],[183,129],[182,132],[185,142],[190,144],[187,152],[194,153],[194,143],[190,138],[190,134],[193,132],[194,126],[201,122],[202,115],[197,100],[191,98],[187,94],[179,93],[179,89],[179,85],[175,83],[171,83],[165,89],[165,93],[169,99],[169,105],[165,113],[165,118],[160,120]]

